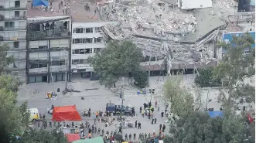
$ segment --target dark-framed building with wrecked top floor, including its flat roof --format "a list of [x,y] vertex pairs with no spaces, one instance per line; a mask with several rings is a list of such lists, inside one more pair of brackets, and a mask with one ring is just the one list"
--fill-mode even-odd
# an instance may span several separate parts
[[52,9],[31,9],[30,5],[26,44],[27,83],[66,80],[70,75],[71,61],[70,16]]

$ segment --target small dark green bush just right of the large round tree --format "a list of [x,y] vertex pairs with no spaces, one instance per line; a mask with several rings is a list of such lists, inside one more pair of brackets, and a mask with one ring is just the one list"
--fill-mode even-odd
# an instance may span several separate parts
[[145,88],[148,85],[148,73],[145,71],[136,71],[133,73],[135,85],[140,88]]

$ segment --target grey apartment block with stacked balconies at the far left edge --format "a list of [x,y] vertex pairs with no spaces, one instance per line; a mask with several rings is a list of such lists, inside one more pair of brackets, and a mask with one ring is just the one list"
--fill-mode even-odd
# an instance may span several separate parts
[[0,44],[9,46],[12,74],[26,80],[26,9],[27,0],[0,0]]

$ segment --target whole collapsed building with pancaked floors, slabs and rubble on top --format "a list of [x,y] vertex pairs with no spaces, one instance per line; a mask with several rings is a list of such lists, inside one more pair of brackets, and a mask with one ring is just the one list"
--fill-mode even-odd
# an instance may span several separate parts
[[[116,22],[104,26],[104,32],[110,39],[131,40],[141,48],[145,70],[171,73],[171,70],[196,70],[217,64],[214,45],[218,29],[225,27],[226,23],[213,11],[207,9],[203,12],[210,21],[213,20],[210,23],[200,18],[200,13],[196,18],[196,12],[179,9],[175,2],[102,0],[96,3],[101,19]],[[202,34],[198,26],[203,22],[198,23],[198,19],[212,28],[202,30]]]

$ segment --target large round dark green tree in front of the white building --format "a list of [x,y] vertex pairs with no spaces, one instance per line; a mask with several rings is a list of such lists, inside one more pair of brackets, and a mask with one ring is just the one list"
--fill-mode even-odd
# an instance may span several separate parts
[[142,51],[134,43],[111,41],[107,48],[91,58],[90,63],[106,87],[115,87],[118,77],[138,70],[141,60]]

